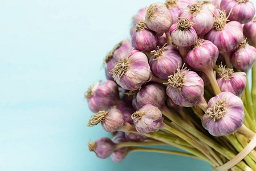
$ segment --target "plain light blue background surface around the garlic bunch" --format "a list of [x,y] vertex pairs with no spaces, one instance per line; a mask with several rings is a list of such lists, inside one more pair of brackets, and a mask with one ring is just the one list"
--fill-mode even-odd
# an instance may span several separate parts
[[86,127],[92,113],[83,92],[105,80],[104,56],[153,2],[1,0],[1,171],[211,170],[169,154],[132,153],[114,163],[88,150],[89,138],[109,133]]

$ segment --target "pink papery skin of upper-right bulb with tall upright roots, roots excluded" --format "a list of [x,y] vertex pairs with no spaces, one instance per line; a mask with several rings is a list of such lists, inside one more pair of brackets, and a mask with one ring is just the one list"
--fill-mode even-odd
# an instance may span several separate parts
[[222,30],[213,28],[204,38],[215,44],[220,52],[231,52],[243,40],[243,27],[239,22],[231,21]]

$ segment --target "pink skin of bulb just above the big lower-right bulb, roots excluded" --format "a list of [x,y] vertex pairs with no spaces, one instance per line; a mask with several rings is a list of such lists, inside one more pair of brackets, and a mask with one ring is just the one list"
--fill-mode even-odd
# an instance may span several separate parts
[[245,72],[234,72],[227,79],[219,75],[217,77],[217,83],[222,92],[231,92],[241,97],[246,86],[246,74]]

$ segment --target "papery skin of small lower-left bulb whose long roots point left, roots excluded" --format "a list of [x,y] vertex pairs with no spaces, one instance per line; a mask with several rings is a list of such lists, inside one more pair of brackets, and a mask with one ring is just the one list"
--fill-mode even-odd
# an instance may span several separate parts
[[107,116],[101,122],[102,128],[107,132],[115,132],[125,124],[121,111],[117,108],[112,108],[108,111]]

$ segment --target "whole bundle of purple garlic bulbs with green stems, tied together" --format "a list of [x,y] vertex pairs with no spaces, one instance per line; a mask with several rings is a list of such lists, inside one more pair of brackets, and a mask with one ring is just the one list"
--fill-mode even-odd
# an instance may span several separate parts
[[131,40],[104,60],[108,80],[85,93],[95,113],[88,127],[100,123],[115,135],[88,142],[90,151],[115,162],[147,151],[198,158],[215,170],[256,170],[254,14],[247,0],[166,0],[141,9]]

